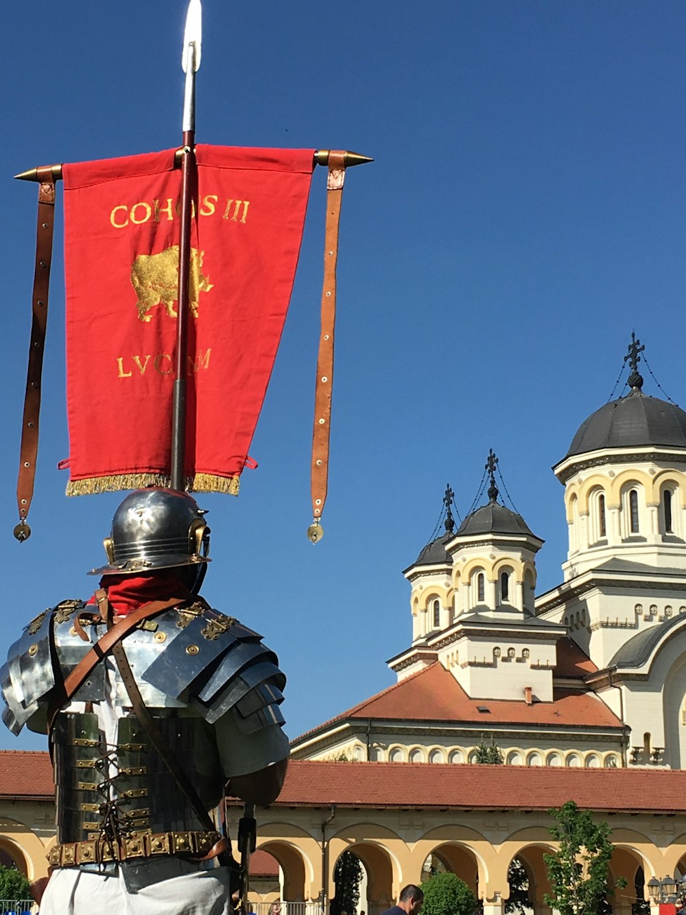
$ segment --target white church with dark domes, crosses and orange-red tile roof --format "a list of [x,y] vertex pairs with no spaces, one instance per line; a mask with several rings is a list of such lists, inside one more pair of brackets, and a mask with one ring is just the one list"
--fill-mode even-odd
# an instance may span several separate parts
[[629,392],[589,416],[553,468],[564,487],[563,582],[538,597],[543,541],[488,502],[404,571],[413,640],[398,683],[293,743],[295,759],[686,769],[686,413]]

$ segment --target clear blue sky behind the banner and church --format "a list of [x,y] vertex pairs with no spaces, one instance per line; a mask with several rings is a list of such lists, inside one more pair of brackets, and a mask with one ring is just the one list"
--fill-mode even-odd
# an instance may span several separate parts
[[[238,499],[199,499],[205,594],[280,654],[295,737],[393,682],[384,662],[411,638],[401,570],[447,481],[464,516],[495,449],[546,541],[546,590],[566,554],[550,468],[612,392],[632,329],[686,401],[686,5],[205,0],[203,13],[198,142],[375,158],[343,199],[325,538],[305,538],[324,169],[252,442],[260,466]],[[37,197],[12,176],[177,145],[185,15],[177,0],[4,9],[3,655],[38,611],[88,596],[122,498],[68,500],[56,468],[69,453],[59,215],[34,533],[12,537]],[[42,746],[0,733],[0,747]]]

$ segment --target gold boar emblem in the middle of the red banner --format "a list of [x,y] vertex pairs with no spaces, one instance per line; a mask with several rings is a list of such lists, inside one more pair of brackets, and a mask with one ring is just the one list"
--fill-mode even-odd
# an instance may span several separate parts
[[[213,284],[202,273],[204,251],[190,249],[190,283],[188,305],[193,318],[198,318],[198,298],[201,292],[209,292]],[[148,314],[155,305],[164,305],[169,318],[176,318],[174,303],[178,298],[178,245],[166,248],[158,254],[138,254],[131,266],[131,285],[134,286],[138,301],[138,317],[142,321],[152,320]]]

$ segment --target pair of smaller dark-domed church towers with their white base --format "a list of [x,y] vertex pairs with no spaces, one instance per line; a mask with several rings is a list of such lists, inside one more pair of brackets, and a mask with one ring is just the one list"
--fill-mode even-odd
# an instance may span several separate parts
[[534,615],[535,555],[543,541],[498,501],[491,450],[488,502],[445,534],[404,575],[412,584],[413,644],[391,659],[399,680],[438,661],[472,698],[552,701],[558,623]]

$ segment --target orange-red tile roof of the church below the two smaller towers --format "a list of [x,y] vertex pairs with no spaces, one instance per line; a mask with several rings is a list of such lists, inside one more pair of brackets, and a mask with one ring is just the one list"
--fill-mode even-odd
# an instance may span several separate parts
[[[581,654],[583,652],[580,651]],[[577,661],[579,659],[577,658]],[[575,662],[576,663],[576,662]],[[589,662],[591,663],[591,662]],[[488,708],[488,712],[479,712]],[[477,722],[479,725],[521,724],[564,727],[622,727],[622,723],[594,693],[555,690],[552,702],[505,699],[471,699],[452,673],[440,662],[413,673],[398,684],[308,731],[294,741],[295,747],[311,734],[326,730],[346,718],[385,718],[406,721]]]

